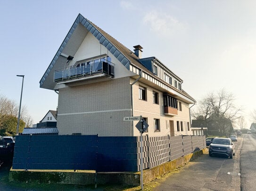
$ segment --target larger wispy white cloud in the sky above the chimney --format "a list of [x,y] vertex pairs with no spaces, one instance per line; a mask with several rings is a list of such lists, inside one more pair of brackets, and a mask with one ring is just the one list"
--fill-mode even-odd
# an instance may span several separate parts
[[186,28],[185,23],[180,22],[173,16],[154,10],[148,12],[143,17],[143,23],[149,25],[150,30],[156,32],[160,36],[168,36],[176,32],[184,31]]

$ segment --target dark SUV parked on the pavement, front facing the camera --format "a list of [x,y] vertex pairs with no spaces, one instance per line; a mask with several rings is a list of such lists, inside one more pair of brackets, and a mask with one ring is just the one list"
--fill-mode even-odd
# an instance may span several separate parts
[[209,156],[224,155],[231,159],[235,155],[235,145],[231,138],[214,138],[209,145]]

